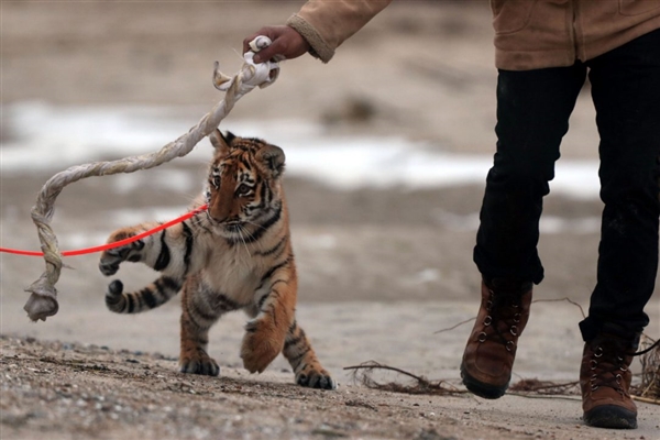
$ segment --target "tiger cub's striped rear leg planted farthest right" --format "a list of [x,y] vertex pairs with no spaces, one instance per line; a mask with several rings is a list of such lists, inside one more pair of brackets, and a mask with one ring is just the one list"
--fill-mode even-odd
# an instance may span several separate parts
[[321,366],[309,340],[305,336],[305,331],[295,320],[289,327],[282,354],[294,369],[298,385],[321,389],[337,388],[337,383],[330,376],[330,373]]

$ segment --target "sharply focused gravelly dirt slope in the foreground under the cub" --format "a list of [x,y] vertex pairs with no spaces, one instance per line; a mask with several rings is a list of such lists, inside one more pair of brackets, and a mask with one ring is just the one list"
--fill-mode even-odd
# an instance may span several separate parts
[[284,372],[182,375],[172,358],[98,345],[2,337],[0,349],[2,439],[653,439],[660,420],[642,404],[641,431],[593,432],[578,397],[322,392]]

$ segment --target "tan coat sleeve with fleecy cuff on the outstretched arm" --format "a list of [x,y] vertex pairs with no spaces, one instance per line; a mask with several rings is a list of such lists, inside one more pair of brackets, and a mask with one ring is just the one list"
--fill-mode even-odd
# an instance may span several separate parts
[[309,53],[328,63],[339,47],[393,0],[309,0],[286,24],[307,40]]

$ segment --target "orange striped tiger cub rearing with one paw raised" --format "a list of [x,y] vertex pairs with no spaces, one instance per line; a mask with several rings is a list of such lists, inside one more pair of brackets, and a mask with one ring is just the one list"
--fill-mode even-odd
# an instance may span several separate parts
[[[114,275],[124,261],[162,273],[133,293],[124,293],[119,279],[111,282],[106,305],[118,314],[136,314],[183,290],[180,371],[210,376],[220,367],[207,353],[209,329],[223,314],[243,309],[251,318],[241,346],[248,371],[263,372],[282,352],[297,384],[333,389],[336,382],[296,322],[298,278],[282,187],[284,152],[218,130],[209,138],[216,152],[206,189],[195,204],[208,208],[157,234],[105,251],[99,262],[103,275]],[[155,226],[119,229],[108,242]]]

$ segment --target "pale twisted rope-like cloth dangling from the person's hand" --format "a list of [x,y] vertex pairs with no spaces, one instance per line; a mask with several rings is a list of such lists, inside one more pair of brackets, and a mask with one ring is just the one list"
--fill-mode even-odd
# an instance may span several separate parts
[[[252,51],[258,52],[267,47],[271,40],[258,36],[252,43]],[[254,64],[254,52],[244,54],[245,62],[233,77],[228,77],[219,70],[218,62],[213,69],[213,85],[226,91],[224,99],[204,116],[197,125],[176,141],[163,146],[160,151],[140,156],[125,157],[112,162],[95,162],[86,165],[72,166],[70,168],[51,177],[42,187],[36,205],[32,208],[32,221],[36,226],[42,252],[46,262],[46,271],[32,283],[25,292],[32,295],[23,309],[32,321],[43,320],[57,314],[57,289],[55,284],[62,271],[62,254],[57,244],[57,237],[51,228],[51,219],[55,212],[55,199],[65,186],[90,176],[107,176],[118,173],[133,173],[139,169],[148,169],[188,154],[199,141],[210,134],[229,114],[234,103],[255,87],[264,88],[273,84],[279,74],[277,63],[266,62]]]

